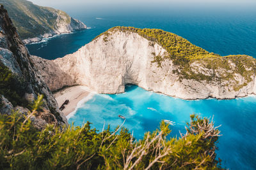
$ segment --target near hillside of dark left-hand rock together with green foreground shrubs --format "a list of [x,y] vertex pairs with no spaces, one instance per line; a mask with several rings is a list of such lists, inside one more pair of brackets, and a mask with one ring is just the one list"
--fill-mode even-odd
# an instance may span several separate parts
[[[46,75],[47,76],[47,75]],[[124,125],[125,120],[122,125]],[[191,115],[136,140],[125,127],[67,126],[7,11],[0,7],[0,169],[221,169],[212,120]]]

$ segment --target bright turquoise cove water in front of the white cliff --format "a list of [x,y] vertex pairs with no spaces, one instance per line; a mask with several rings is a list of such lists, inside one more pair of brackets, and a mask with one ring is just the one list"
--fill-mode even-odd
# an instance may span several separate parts
[[185,132],[191,113],[202,117],[214,117],[215,125],[223,136],[218,143],[218,157],[223,166],[230,169],[255,169],[256,154],[256,97],[244,97],[232,100],[205,99],[186,101],[175,97],[148,92],[135,85],[125,88],[123,94],[96,94],[79,108],[68,122],[82,125],[89,121],[92,127],[102,131],[105,124],[114,129],[126,118],[127,127],[135,138],[143,138],[147,131],[154,131],[161,120],[170,120],[172,136]]

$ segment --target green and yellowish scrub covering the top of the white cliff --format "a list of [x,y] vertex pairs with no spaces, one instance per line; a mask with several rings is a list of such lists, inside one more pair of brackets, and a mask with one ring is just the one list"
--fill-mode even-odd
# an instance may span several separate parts
[[[134,27],[113,27],[106,32],[103,32],[100,36],[104,36],[104,41],[108,41],[108,36],[112,32],[136,32],[143,38],[148,39],[149,46],[154,46],[154,43],[163,46],[167,51],[164,56],[156,53],[154,60],[158,67],[162,67],[162,62],[166,59],[172,60],[173,64],[177,67],[174,73],[179,74],[179,79],[193,79],[197,81],[220,81],[223,80],[232,81],[229,85],[232,85],[234,90],[239,90],[246,86],[248,82],[252,81],[252,76],[256,73],[256,60],[248,55],[228,55],[220,56],[215,53],[209,53],[203,48],[190,43],[187,39],[184,39],[172,32],[166,32],[161,29],[138,29]],[[193,71],[191,64],[199,64],[208,70],[208,73],[197,73]],[[240,74],[246,80],[242,85],[237,84],[235,78],[236,74]]]

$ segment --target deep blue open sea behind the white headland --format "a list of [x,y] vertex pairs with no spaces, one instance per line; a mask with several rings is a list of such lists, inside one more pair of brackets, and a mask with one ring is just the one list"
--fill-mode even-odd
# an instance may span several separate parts
[[[172,8],[172,7],[170,7]],[[220,55],[246,54],[256,57],[256,10],[212,10],[191,8],[140,9],[125,7],[105,10],[65,9],[88,27],[74,34],[57,36],[43,43],[27,45],[32,55],[56,59],[76,52],[95,36],[115,26],[163,29]],[[100,18],[100,19],[99,19]]]

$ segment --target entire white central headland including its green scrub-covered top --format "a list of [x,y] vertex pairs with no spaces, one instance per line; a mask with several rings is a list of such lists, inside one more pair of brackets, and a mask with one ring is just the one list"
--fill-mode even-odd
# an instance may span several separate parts
[[[253,57],[221,57],[159,29],[114,27],[75,53],[44,60],[44,67],[39,62],[42,59],[33,60],[46,75],[51,90],[69,82],[115,94],[132,83],[183,99],[232,99],[256,94]],[[58,72],[48,74],[57,66]],[[59,74],[68,76],[61,76],[61,81]],[[53,81],[60,84],[54,85]]]

